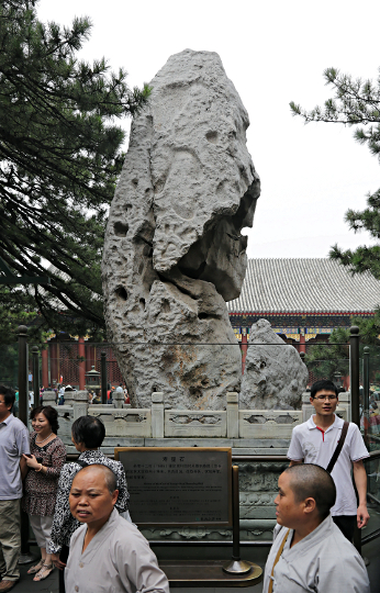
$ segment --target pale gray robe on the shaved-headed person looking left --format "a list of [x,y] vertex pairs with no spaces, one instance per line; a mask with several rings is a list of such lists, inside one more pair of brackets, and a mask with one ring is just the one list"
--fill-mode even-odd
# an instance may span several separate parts
[[[262,593],[268,593],[277,552],[288,532],[275,528],[275,541],[265,567]],[[331,515],[314,532],[290,547],[290,529],[282,555],[275,567],[272,593],[369,593],[366,566],[353,544]]]

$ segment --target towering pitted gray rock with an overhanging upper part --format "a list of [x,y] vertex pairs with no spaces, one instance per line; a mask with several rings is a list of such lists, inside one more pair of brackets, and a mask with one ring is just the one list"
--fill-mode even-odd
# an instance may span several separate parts
[[163,391],[166,407],[221,410],[239,391],[225,301],[242,288],[241,230],[259,195],[248,115],[214,53],[171,56],[150,86],[105,232],[109,337],[133,405]]

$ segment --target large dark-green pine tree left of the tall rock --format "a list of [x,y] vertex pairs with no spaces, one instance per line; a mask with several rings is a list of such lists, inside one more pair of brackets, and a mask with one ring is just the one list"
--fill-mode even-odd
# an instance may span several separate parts
[[115,121],[142,109],[149,88],[130,89],[104,58],[78,59],[88,18],[43,24],[36,4],[0,4],[0,257],[15,275],[49,268],[52,284],[0,296],[20,314],[34,305],[45,328],[91,333],[104,327],[101,249],[124,159]]

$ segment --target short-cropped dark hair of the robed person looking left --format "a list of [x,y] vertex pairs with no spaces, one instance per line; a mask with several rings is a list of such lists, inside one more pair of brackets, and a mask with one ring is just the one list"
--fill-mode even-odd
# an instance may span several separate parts
[[300,463],[286,469],[295,502],[314,499],[318,515],[325,519],[335,504],[336,488],[328,471],[315,463]]

